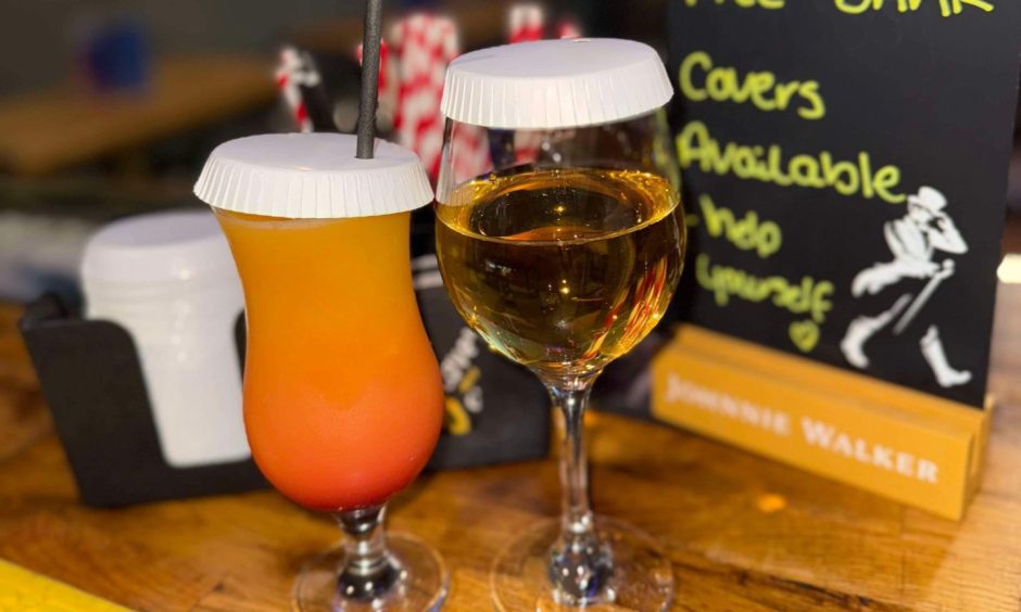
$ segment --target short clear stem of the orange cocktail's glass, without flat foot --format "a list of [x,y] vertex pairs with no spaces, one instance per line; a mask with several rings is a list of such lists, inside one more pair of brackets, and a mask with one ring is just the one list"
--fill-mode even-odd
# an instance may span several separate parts
[[369,602],[400,587],[404,570],[387,552],[385,514],[385,505],[336,514],[344,532],[344,564],[337,576],[339,598]]

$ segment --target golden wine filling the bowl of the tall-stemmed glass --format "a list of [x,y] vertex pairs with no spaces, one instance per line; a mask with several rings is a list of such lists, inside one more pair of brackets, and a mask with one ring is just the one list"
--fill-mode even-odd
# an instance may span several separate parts
[[438,207],[440,269],[468,323],[543,379],[583,377],[655,327],[677,286],[683,226],[658,175],[515,168]]

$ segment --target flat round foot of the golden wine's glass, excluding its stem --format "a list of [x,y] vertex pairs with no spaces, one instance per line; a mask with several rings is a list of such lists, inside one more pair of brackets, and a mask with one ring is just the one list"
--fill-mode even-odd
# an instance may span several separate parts
[[[596,518],[595,527],[600,539],[613,550],[614,571],[607,592],[584,610],[667,610],[673,599],[673,569],[663,550],[627,523]],[[559,521],[544,521],[496,558],[490,574],[496,610],[577,610],[556,602],[549,577],[550,550],[559,531]]]

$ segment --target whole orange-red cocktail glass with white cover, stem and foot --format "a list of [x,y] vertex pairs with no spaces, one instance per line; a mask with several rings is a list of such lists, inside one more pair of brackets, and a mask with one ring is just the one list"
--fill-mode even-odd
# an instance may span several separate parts
[[329,512],[343,545],[304,564],[292,607],[431,610],[449,573],[386,534],[386,501],[426,466],[443,420],[440,368],[409,257],[411,212],[432,201],[418,157],[354,136],[225,142],[196,182],[244,289],[244,426],[273,485]]

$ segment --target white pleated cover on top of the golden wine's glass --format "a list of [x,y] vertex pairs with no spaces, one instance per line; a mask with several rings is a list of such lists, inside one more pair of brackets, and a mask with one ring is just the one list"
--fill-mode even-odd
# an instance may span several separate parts
[[617,122],[670,101],[659,55],[633,40],[575,38],[480,49],[446,69],[448,117],[502,129],[552,129]]

